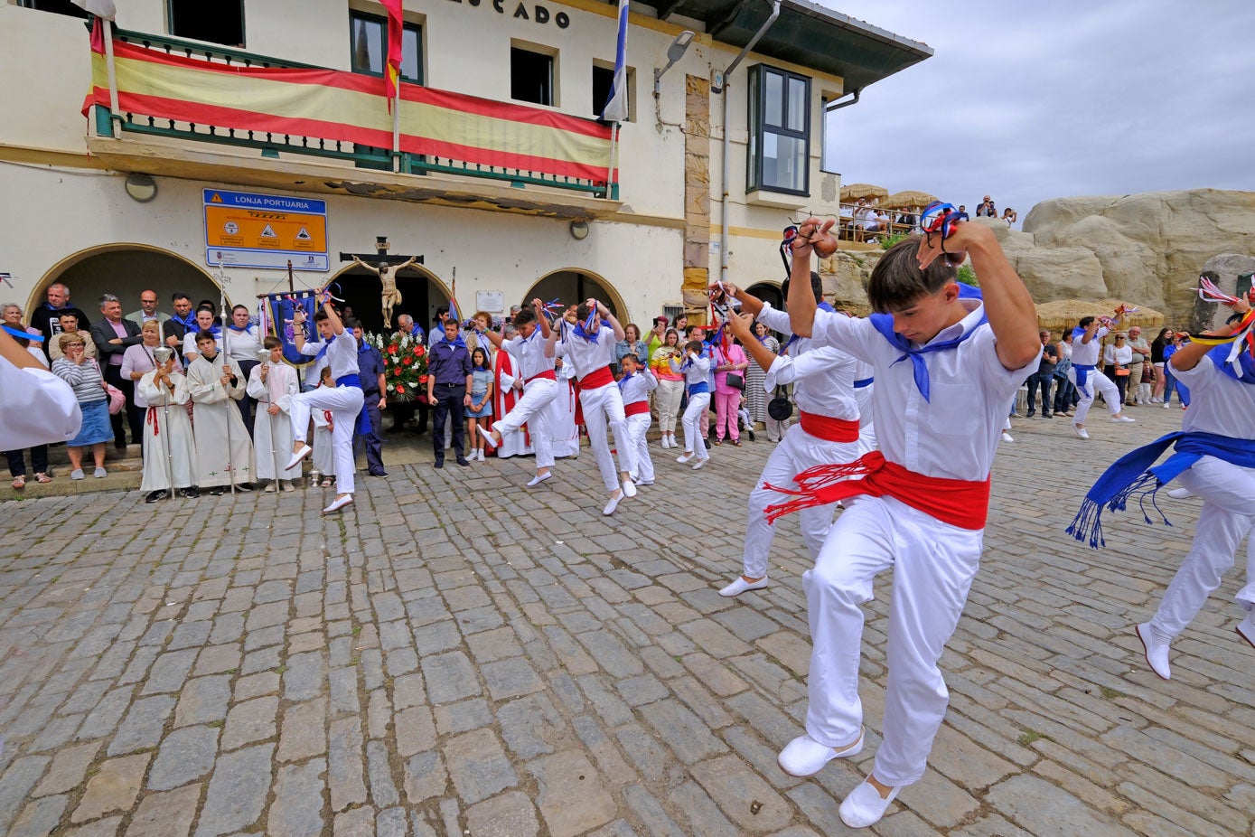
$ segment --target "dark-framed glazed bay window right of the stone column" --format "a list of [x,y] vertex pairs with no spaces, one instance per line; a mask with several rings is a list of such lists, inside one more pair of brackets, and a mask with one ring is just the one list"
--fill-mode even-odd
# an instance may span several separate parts
[[809,195],[811,79],[758,64],[749,68],[747,191]]

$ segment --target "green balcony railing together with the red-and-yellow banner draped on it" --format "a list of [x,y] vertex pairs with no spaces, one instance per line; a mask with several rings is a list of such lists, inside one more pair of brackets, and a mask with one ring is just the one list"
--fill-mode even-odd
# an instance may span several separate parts
[[99,136],[133,132],[257,148],[264,157],[309,154],[619,196],[617,177],[609,177],[610,127],[592,119],[402,83],[394,123],[384,82],[371,75],[122,30],[107,50],[99,21],[92,49],[84,114],[94,109]]

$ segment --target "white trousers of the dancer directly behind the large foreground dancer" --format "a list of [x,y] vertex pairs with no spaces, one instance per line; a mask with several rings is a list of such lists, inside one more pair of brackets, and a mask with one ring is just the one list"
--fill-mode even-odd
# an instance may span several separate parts
[[[764,488],[766,483],[778,488],[796,488],[793,478],[813,466],[842,464],[853,462],[862,456],[860,442],[826,442],[817,439],[801,424],[794,424],[784,433],[784,439],[767,457],[763,473],[758,477],[758,487],[749,492],[749,522],[745,525],[745,552],[743,556],[747,578],[762,578],[767,575],[767,555],[772,550],[776,526],[767,522],[766,508],[772,503],[783,503],[788,494]],[[811,551],[811,560],[820,557],[823,538],[832,526],[832,506],[813,506],[803,508],[798,514],[802,528],[802,541]]]

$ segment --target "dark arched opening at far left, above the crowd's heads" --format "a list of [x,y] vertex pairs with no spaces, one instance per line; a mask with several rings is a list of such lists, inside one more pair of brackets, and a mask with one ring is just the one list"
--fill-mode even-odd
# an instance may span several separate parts
[[[67,256],[44,274],[29,300],[28,311],[46,301],[48,286],[61,282],[70,289],[70,304],[94,323],[100,316],[99,299],[113,294],[122,300],[123,315],[139,310],[139,295],[157,291],[157,306],[171,314],[171,295],[187,294],[195,306],[211,300],[217,307],[222,291],[205,269],[164,250],[143,245],[110,245]],[[230,295],[228,295],[230,296]],[[231,299],[250,309],[256,300]]]

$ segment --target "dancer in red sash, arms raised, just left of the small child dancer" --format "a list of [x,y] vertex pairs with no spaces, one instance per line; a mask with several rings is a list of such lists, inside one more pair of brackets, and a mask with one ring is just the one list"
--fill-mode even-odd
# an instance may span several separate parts
[[[615,387],[610,361],[614,359],[615,341],[624,339],[624,328],[619,325],[610,310],[595,299],[589,299],[576,311],[575,328],[563,335],[557,344],[556,354],[563,363],[575,366],[580,383],[580,407],[584,412],[584,427],[589,432],[589,444],[597,458],[601,481],[610,492],[610,502],[601,509],[607,517],[615,513],[624,497],[636,496],[634,474],[636,472],[636,452],[628,443],[628,420],[624,414],[622,393]],[[604,323],[610,325],[604,325]],[[553,343],[556,336],[550,338]],[[606,425],[614,428],[615,443],[619,445],[619,468],[615,472],[615,457],[610,453],[610,440],[606,438]],[[619,479],[622,477],[622,487]]]

